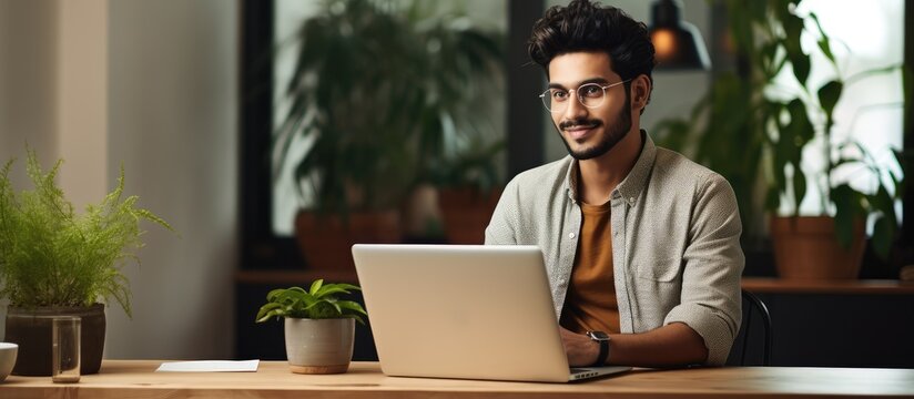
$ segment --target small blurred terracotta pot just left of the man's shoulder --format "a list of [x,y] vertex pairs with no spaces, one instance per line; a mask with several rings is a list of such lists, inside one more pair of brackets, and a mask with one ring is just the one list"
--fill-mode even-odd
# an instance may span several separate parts
[[445,223],[445,235],[450,244],[483,244],[486,239],[486,226],[501,190],[481,193],[474,188],[441,188],[438,204]]

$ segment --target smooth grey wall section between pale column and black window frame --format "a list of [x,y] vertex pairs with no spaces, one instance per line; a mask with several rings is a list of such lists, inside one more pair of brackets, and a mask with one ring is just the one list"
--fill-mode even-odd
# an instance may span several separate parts
[[237,262],[238,6],[110,6],[109,175],[181,234],[150,228],[134,316],[109,311],[113,358],[225,358]]

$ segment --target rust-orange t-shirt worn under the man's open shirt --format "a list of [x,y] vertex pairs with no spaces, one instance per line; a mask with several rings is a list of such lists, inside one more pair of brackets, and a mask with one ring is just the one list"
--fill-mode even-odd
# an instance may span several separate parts
[[619,305],[612,277],[612,227],[609,202],[581,204],[580,238],[571,283],[559,324],[578,334],[619,332]]

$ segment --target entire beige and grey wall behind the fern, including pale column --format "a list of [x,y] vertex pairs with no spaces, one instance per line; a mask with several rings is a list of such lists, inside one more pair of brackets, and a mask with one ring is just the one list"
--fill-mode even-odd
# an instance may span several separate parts
[[21,158],[23,140],[48,162],[69,152],[82,161],[64,164],[75,186],[68,194],[88,197],[97,184],[113,188],[123,164],[126,193],[179,231],[144,224],[142,266],[125,268],[134,316],[108,309],[108,358],[227,358],[238,231],[237,1],[79,6],[0,0],[0,155]]

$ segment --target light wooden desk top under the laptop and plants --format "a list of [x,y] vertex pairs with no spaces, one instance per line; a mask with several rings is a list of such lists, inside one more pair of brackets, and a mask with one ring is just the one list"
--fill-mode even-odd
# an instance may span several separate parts
[[302,376],[285,361],[257,372],[153,372],[153,360],[105,360],[101,374],[74,385],[10,376],[0,398],[823,398],[912,397],[912,369],[698,368],[634,370],[576,383],[532,383],[386,377],[376,362],[348,374]]

